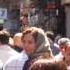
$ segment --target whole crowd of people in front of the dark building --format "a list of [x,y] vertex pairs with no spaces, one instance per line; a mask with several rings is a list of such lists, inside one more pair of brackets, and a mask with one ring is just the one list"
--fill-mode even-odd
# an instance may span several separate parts
[[1,30],[0,70],[70,70],[70,39],[38,27],[13,37]]

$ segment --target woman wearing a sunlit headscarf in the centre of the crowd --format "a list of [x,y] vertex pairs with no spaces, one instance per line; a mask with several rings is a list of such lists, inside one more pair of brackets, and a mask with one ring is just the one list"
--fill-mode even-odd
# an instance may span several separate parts
[[22,42],[24,45],[24,50],[28,55],[29,59],[23,66],[23,70],[27,70],[31,61],[35,58],[44,56],[45,58],[51,56],[51,50],[49,49],[49,42],[41,28],[31,27],[23,31]]

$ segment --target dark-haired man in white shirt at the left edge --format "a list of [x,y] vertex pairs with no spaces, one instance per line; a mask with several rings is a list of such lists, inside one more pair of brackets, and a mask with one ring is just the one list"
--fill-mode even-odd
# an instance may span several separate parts
[[0,31],[0,63],[5,64],[8,59],[18,53],[9,45],[9,33],[5,30]]

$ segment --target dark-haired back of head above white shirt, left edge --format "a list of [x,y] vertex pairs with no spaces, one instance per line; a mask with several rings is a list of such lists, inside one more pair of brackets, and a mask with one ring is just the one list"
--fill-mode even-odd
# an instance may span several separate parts
[[1,44],[8,44],[10,34],[6,30],[0,31],[0,43]]

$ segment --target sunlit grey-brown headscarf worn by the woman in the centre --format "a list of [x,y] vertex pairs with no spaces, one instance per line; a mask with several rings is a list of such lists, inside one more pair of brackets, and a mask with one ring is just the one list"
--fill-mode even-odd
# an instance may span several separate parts
[[52,54],[50,49],[50,43],[48,41],[47,36],[45,35],[44,30],[37,27],[31,27],[31,29],[34,29],[38,32],[37,40],[36,40],[38,47],[31,57],[32,58],[39,57],[41,55],[44,55],[44,53]]

